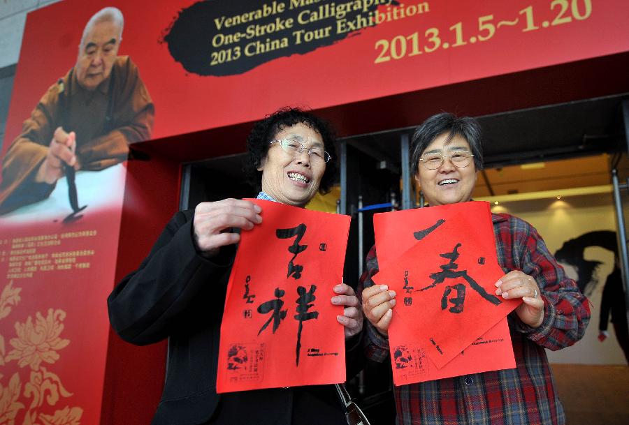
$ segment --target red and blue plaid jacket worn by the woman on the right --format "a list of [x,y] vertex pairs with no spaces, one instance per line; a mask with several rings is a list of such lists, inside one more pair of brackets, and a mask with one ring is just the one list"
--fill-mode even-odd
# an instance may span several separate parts
[[[533,226],[509,214],[492,214],[498,262],[505,273],[521,270],[535,278],[544,299],[537,329],[508,317],[516,368],[404,385],[395,388],[399,425],[563,425],[544,349],[559,350],[579,341],[590,308],[577,284],[565,276]],[[378,271],[375,247],[367,255],[364,287]],[[384,361],[389,341],[366,321],[366,356]]]

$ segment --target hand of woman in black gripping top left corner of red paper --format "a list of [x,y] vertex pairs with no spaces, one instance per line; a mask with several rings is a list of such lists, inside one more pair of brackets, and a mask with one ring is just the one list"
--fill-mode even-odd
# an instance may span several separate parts
[[194,244],[205,257],[217,255],[221,246],[237,244],[240,234],[233,228],[252,230],[262,223],[262,209],[250,201],[224,199],[217,202],[201,202],[194,209]]

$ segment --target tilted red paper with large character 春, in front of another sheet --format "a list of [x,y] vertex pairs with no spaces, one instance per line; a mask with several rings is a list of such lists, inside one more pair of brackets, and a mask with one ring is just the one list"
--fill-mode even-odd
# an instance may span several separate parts
[[400,294],[396,311],[405,323],[403,331],[421,337],[438,368],[519,304],[494,294],[493,284],[504,273],[496,260],[491,227],[490,241],[470,235],[461,230],[481,223],[463,217],[452,216],[374,276],[376,283],[386,282]]

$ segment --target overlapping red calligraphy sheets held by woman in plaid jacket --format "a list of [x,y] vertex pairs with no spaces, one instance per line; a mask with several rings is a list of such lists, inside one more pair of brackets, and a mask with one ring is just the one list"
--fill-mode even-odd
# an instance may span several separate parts
[[[516,306],[517,301],[503,300],[500,306],[505,304],[511,304],[511,306],[509,308],[501,307],[508,311],[505,311],[504,314],[500,313],[498,318],[490,314],[491,320],[487,320],[486,314],[483,313],[481,321],[484,325],[481,327],[472,327],[471,329],[459,327],[456,331],[448,330],[447,322],[439,320],[438,315],[426,315],[426,313],[417,311],[417,307],[421,306],[422,301],[425,301],[419,301],[422,297],[418,297],[418,295],[425,296],[428,292],[436,290],[440,293],[433,294],[433,297],[436,297],[438,301],[438,304],[433,305],[435,309],[433,313],[442,312],[441,302],[444,298],[445,287],[449,285],[449,281],[453,281],[451,278],[443,278],[443,282],[436,283],[433,288],[419,291],[419,289],[433,285],[435,278],[430,278],[430,274],[443,272],[444,269],[440,266],[444,266],[450,271],[463,271],[465,267],[469,266],[468,276],[472,276],[485,289],[486,294],[493,295],[495,290],[493,283],[503,275],[503,271],[498,267],[496,260],[489,204],[486,202],[465,202],[442,207],[376,214],[374,227],[380,269],[379,274],[374,276],[374,281],[389,285],[389,288],[398,292],[398,304],[393,309],[394,317],[389,329],[393,379],[396,385],[515,367],[505,315]],[[453,239],[448,233],[452,233],[456,237]],[[456,240],[457,238],[458,240]],[[454,251],[456,244],[461,241],[465,241],[465,248],[463,249],[462,244]],[[474,247],[469,246],[470,242]],[[422,244],[425,246],[426,252],[420,252],[424,249],[421,248]],[[442,245],[440,248],[435,246],[439,244]],[[452,246],[449,246],[450,244]],[[472,249],[469,250],[468,246]],[[439,248],[442,251],[431,251],[430,247]],[[410,252],[417,258],[411,258],[410,262],[407,260],[405,263],[407,267],[396,266],[400,263],[400,259],[405,260],[403,256],[406,255],[406,251],[410,250],[417,250]],[[479,250],[484,251],[484,254],[480,255]],[[463,252],[473,253],[473,261],[471,258],[463,258]],[[441,257],[441,253],[449,255],[450,258]],[[456,257],[457,254],[458,257],[455,262],[458,262],[458,268],[454,269],[453,266],[447,266],[451,262],[451,258]],[[482,262],[484,262],[483,265],[478,264],[481,257]],[[431,260],[423,261],[425,258],[431,258]],[[417,261],[418,259],[422,261]],[[463,265],[465,267],[461,267]],[[426,267],[428,268],[426,269]],[[482,269],[485,267],[487,270],[483,271]],[[422,271],[421,268],[424,270]],[[405,276],[405,271],[409,272],[407,276]],[[482,276],[485,274],[487,276],[478,278],[475,274],[479,271],[482,271]],[[417,277],[418,272],[422,276],[426,274],[425,278],[428,278],[428,281],[414,283],[413,279]],[[387,274],[392,274],[396,278],[387,278]],[[409,283],[405,282],[405,278]],[[454,285],[461,283],[465,285],[465,288],[459,290],[453,288]],[[470,311],[469,306],[477,304],[477,301],[483,301],[479,303],[481,306],[484,303],[487,306],[496,307],[495,304],[480,296],[479,292],[473,289],[464,277],[459,277],[454,285],[449,285],[451,286],[450,293],[445,299],[446,308],[444,311],[450,315],[467,313]],[[405,286],[407,288],[404,288]],[[408,288],[410,286],[413,287],[412,290]],[[407,292],[409,290],[411,292]],[[461,290],[465,291],[465,299],[468,301],[463,299],[463,311],[461,313],[451,313],[449,308],[456,308],[451,299],[454,298],[456,302],[456,295],[460,294]],[[407,299],[406,303],[405,299]],[[412,307],[413,305],[415,308]],[[444,355],[439,354],[436,346],[430,341],[431,336],[419,333],[426,324],[438,331],[438,335],[440,335],[438,338],[446,337],[444,340],[437,341],[435,336],[432,336],[442,352],[444,349],[448,350],[447,355],[452,359],[451,361],[440,361]],[[482,329],[483,327],[484,329]],[[488,330],[490,328],[491,330]],[[466,344],[461,347],[461,350],[465,348],[465,355],[459,355],[461,350],[453,348],[457,347],[457,344]],[[453,353],[454,355],[452,355]],[[413,360],[404,364],[407,359],[405,355],[408,354],[412,355]],[[426,359],[427,354],[430,359]],[[424,358],[424,361],[420,361],[421,358]],[[438,367],[437,364],[440,366]]]

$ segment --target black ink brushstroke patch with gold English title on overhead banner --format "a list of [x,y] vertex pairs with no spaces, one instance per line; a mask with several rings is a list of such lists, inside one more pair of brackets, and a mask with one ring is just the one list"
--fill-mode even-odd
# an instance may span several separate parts
[[198,1],[180,10],[162,41],[189,73],[237,75],[399,19],[398,5],[391,0]]

